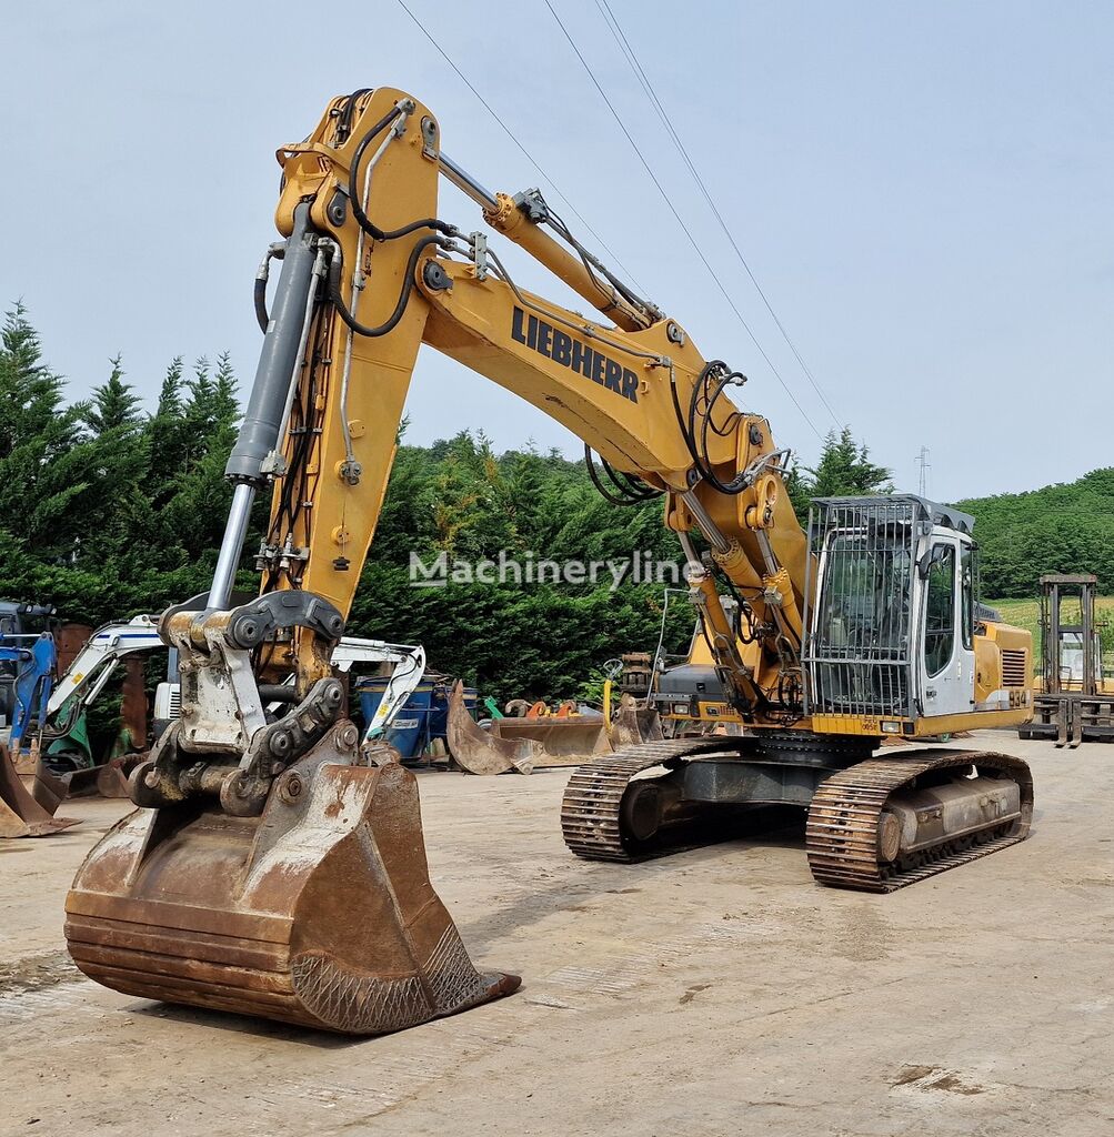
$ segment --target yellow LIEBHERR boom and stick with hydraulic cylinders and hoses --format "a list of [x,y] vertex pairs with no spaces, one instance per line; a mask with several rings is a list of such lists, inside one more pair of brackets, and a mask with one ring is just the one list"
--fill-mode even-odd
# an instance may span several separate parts
[[[432,115],[377,90],[330,105],[279,152],[289,234],[259,373],[229,475],[239,511],[213,605],[228,594],[250,496],[273,480],[263,591],[300,590],[347,614],[374,534],[422,343],[564,424],[601,459],[609,496],[663,499],[690,554],[694,598],[732,702],[750,721],[799,711],[806,539],[768,422],[740,412],[743,377],[709,363],[676,319],[637,297],[555,218],[537,191],[490,193],[444,155]],[[586,318],[513,281],[482,232],[437,218],[442,176],[496,232],[610,317]],[[551,233],[558,233],[558,238]],[[588,456],[592,460],[591,454]],[[711,572],[740,597],[740,637]],[[320,650],[299,632],[304,689]],[[754,642],[743,650],[740,639]],[[289,653],[270,657],[289,666]],[[789,682],[787,682],[789,680]]]

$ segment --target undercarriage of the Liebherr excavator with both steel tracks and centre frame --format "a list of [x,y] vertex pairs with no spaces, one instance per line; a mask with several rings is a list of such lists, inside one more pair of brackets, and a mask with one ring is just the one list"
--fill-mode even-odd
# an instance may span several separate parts
[[585,860],[634,862],[720,839],[741,812],[798,806],[819,883],[885,893],[1028,836],[1024,762],[941,749],[876,758],[873,741],[793,732],[632,746],[573,772],[564,840]]

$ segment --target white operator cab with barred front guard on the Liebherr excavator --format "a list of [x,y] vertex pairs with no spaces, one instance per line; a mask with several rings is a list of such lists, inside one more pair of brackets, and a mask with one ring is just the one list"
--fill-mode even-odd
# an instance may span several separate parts
[[909,733],[917,719],[975,709],[973,528],[913,495],[812,503],[808,713]]

